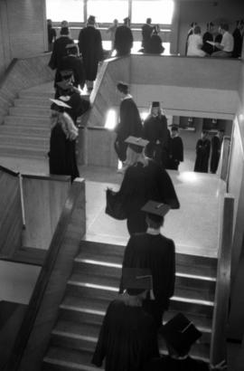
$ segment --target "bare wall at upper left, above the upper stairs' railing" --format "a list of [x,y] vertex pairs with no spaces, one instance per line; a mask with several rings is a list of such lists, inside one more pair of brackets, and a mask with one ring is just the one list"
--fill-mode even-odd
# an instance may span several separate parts
[[0,77],[13,58],[46,50],[44,0],[0,0]]

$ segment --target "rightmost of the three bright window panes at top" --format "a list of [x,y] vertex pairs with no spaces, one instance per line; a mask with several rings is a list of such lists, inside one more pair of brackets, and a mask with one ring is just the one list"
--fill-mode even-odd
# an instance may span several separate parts
[[172,24],[174,2],[172,0],[133,0],[132,23],[145,24],[152,18],[152,24]]

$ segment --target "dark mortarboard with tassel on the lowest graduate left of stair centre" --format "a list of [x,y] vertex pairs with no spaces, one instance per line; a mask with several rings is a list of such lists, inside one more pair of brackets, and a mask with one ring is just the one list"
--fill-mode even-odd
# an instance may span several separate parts
[[138,295],[145,290],[152,290],[152,273],[149,269],[123,268],[122,287],[129,295]]

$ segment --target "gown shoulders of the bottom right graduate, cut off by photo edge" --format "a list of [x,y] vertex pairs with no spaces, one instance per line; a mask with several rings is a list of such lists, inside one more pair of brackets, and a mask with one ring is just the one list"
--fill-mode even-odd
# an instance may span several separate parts
[[209,371],[209,365],[190,356],[185,359],[165,356],[149,362],[143,371]]

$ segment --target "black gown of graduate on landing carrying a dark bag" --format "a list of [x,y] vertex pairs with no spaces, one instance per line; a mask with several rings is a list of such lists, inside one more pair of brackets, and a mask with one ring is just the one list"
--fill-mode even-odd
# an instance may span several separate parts
[[146,231],[145,213],[141,208],[147,201],[162,202],[173,209],[180,207],[170,176],[151,159],[146,166],[137,162],[127,168],[118,196],[127,214],[130,234]]

